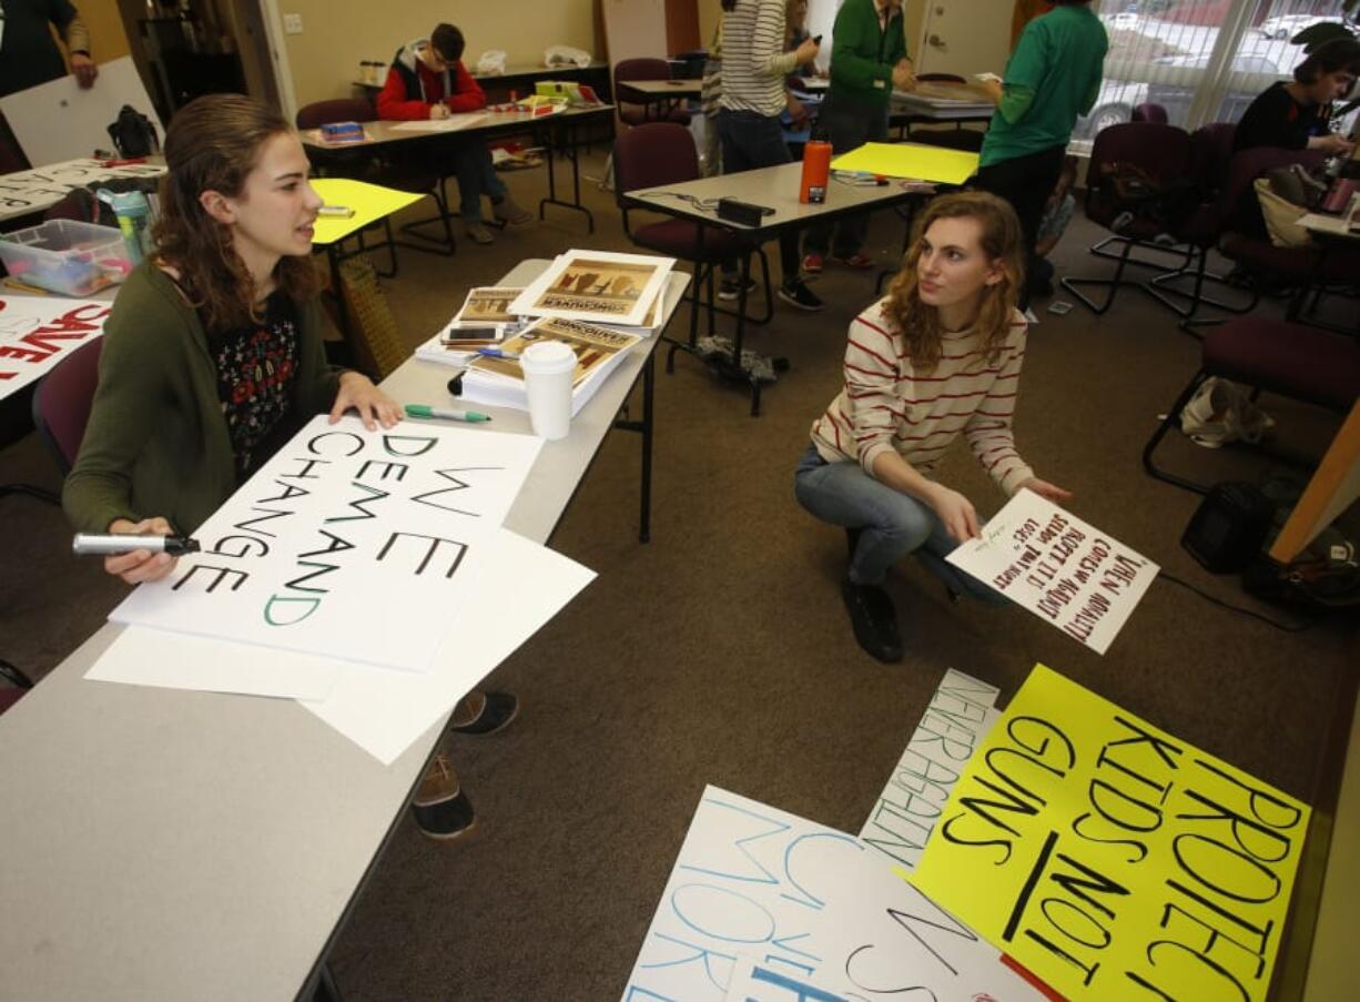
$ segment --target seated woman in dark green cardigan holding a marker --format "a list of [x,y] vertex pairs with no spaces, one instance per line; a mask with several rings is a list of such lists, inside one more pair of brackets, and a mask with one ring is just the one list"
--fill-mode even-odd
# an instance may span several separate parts
[[[90,421],[63,485],[80,532],[193,533],[311,415],[337,421],[354,409],[370,430],[401,417],[367,377],[326,364],[310,257],[321,197],[279,111],[239,95],[199,98],[170,122],[165,158],[158,252],[113,303]],[[174,564],[147,551],[105,559],[128,583]],[[477,733],[514,715],[513,696],[480,702]],[[415,806],[437,837],[472,824],[442,761]]]

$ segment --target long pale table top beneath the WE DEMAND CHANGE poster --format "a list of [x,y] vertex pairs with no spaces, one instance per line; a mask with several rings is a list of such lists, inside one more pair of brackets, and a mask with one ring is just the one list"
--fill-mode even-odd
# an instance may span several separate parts
[[[507,528],[547,538],[658,340],[545,443]],[[453,371],[407,362],[384,386],[428,402]],[[522,412],[479,409],[528,431]],[[87,683],[118,629],[0,718],[0,998],[292,998],[446,721],[384,767],[292,700]]]

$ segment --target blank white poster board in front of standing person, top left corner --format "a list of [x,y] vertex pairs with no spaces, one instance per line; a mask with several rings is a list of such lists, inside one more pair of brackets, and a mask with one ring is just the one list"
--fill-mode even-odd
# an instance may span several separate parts
[[156,122],[165,137],[147,88],[141,86],[131,56],[99,64],[94,87],[82,87],[71,73],[0,98],[0,111],[14,129],[29,163],[44,165],[112,150],[109,126],[124,105]]

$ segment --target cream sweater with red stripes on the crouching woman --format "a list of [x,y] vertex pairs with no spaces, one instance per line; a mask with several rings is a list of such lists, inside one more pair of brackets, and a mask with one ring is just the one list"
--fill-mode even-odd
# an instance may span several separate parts
[[1024,360],[1024,315],[1015,314],[996,363],[981,351],[979,332],[960,330],[944,336],[936,367],[918,374],[906,336],[883,307],[880,300],[850,324],[846,386],[812,424],[821,458],[858,461],[873,476],[874,460],[895,449],[928,474],[962,432],[997,487],[1006,496],[1015,494],[1034,476],[1010,434]]

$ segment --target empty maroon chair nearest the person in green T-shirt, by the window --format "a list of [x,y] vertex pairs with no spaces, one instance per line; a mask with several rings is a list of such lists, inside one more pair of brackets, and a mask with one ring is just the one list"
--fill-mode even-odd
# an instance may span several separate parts
[[[1102,241],[1092,247],[1092,253],[1102,257],[1112,257],[1118,262],[1111,277],[1062,279],[1062,287],[1096,314],[1102,314],[1110,309],[1121,287],[1132,286],[1145,292],[1149,291],[1146,283],[1123,277],[1125,269],[1130,264],[1142,268],[1157,268],[1161,272],[1168,271],[1160,264],[1130,257],[1134,246],[1151,245],[1156,237],[1167,232],[1167,226],[1144,218],[1121,220],[1127,207],[1114,198],[1107,190],[1108,186],[1102,184],[1104,169],[1115,163],[1141,167],[1163,189],[1170,188],[1175,182],[1182,182],[1190,174],[1190,135],[1175,125],[1155,125],[1151,122],[1122,122],[1096,133],[1095,143],[1091,145],[1091,162],[1087,167],[1084,209],[1087,219],[1092,223],[1103,226],[1117,237],[1125,239],[1119,241],[1122,245],[1119,254],[1100,250],[1108,241]],[[1118,228],[1115,227],[1117,220],[1119,222]],[[1179,271],[1189,265],[1189,256],[1186,256],[1185,264],[1171,271]],[[1081,291],[1088,286],[1107,288],[1108,292],[1104,302],[1096,303]]]

